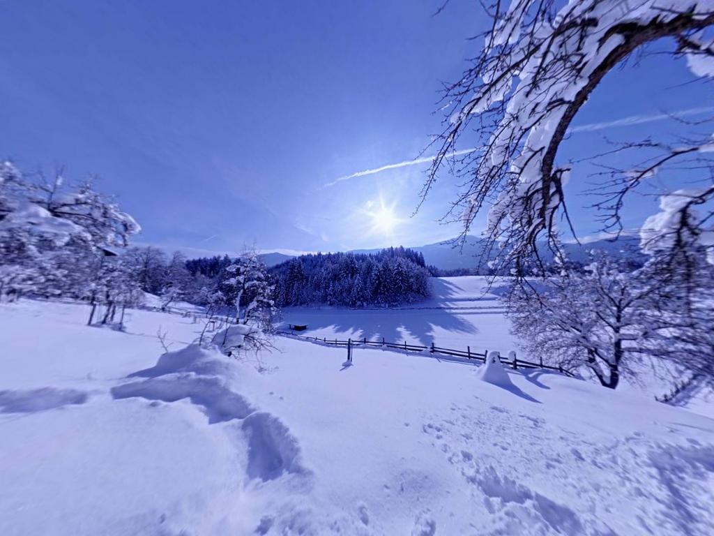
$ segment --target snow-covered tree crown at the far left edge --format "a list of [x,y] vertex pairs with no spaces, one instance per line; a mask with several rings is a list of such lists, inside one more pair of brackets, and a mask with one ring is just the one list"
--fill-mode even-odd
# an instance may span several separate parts
[[[66,184],[0,164],[0,297],[34,292],[76,295],[84,284],[72,266],[124,247],[139,225],[91,182]],[[70,283],[76,286],[72,287]]]

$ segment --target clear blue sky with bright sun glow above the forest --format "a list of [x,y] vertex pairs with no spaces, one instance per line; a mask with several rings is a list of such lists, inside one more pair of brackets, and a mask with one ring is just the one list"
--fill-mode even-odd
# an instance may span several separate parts
[[[448,177],[409,217],[428,164],[326,186],[413,159],[439,130],[439,81],[476,53],[478,41],[466,38],[484,23],[476,2],[452,0],[431,16],[440,4],[2,1],[3,156],[25,170],[64,164],[70,177],[99,175],[99,188],[144,228],[137,240],[167,248],[327,251],[446,239],[458,232],[435,222],[456,192]],[[691,80],[683,60],[629,65],[575,124],[714,110],[710,87]],[[604,135],[671,129],[645,121],[579,132],[563,158],[599,147]],[[579,202],[570,210],[580,231],[595,232]],[[398,218],[390,233],[370,216],[381,203]],[[655,207],[649,198],[635,205],[633,227]]]

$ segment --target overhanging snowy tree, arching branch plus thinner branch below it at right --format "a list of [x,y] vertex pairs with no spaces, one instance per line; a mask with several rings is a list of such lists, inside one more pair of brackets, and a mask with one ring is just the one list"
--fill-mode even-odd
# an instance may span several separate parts
[[[714,26],[714,2],[490,0],[483,5],[492,24],[461,79],[446,87],[446,126],[435,142],[438,153],[422,194],[451,164],[449,171],[465,184],[449,212],[463,224],[462,238],[491,205],[486,236],[501,252],[497,264],[535,259],[542,267],[541,242],[556,258],[563,256],[560,222],[575,234],[565,184],[578,170],[558,162],[573,118],[610,71],[635,53],[646,54],[654,41],[669,46],[673,56],[686,56],[695,76],[714,76],[714,41],[702,33]],[[460,144],[462,137],[468,146]],[[598,175],[594,188],[605,229],[619,232],[630,193],[674,165],[687,169],[690,180],[705,183],[698,198],[713,199],[713,148],[708,136],[675,144],[650,139],[619,144],[613,152],[632,154],[642,164]],[[712,221],[703,218],[700,224]]]

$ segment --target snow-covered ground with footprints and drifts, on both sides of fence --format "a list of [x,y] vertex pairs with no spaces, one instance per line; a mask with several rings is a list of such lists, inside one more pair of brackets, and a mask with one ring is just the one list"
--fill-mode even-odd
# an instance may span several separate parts
[[[451,306],[286,320],[507,352],[474,279],[444,282]],[[121,333],[87,312],[0,304],[4,536],[714,532],[714,420],[649,396],[379,349],[345,367],[286,338],[232,359],[186,347],[190,318],[134,311]]]

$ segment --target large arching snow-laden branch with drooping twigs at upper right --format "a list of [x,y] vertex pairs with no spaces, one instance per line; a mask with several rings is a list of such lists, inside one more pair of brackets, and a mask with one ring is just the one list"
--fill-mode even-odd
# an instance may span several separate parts
[[[531,257],[543,234],[551,245],[557,242],[562,186],[571,171],[558,162],[558,146],[573,114],[608,71],[648,40],[670,36],[686,43],[680,51],[696,76],[714,73],[712,41],[695,35],[706,26],[710,7],[710,1],[697,0],[489,4],[493,26],[483,49],[446,91],[451,126],[440,137],[430,177],[458,152],[460,134],[473,129],[483,155],[451,161],[458,175],[471,177],[461,184],[456,205],[463,209],[465,232],[488,207],[483,235],[492,246],[508,245],[499,266]],[[641,40],[630,39],[633,27],[640,28]]]

